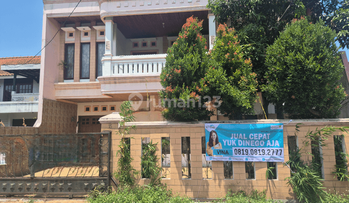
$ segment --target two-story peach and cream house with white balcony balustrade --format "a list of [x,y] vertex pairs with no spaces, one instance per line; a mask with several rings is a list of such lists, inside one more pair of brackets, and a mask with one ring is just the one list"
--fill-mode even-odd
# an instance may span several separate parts
[[[163,120],[156,104],[167,49],[190,16],[204,20],[208,47],[216,35],[207,0],[43,1],[43,46],[53,40],[42,52],[41,96],[75,104],[78,132],[99,132],[98,119],[127,100],[137,121]],[[39,107],[36,126],[55,120],[43,114]]]

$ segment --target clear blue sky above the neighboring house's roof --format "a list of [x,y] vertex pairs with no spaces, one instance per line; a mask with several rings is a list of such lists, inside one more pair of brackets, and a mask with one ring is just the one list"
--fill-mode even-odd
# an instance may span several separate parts
[[41,50],[43,7],[42,0],[1,2],[0,58],[34,56]]

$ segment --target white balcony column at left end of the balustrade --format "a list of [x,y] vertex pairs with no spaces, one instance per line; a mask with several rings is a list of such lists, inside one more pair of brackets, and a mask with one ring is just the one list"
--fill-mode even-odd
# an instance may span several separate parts
[[104,61],[103,68],[102,68],[102,74],[103,76],[106,75],[112,75],[111,72],[111,58],[113,56],[113,49],[115,48],[114,45],[114,22],[112,20],[112,17],[106,17],[105,20],[105,54],[104,54]]

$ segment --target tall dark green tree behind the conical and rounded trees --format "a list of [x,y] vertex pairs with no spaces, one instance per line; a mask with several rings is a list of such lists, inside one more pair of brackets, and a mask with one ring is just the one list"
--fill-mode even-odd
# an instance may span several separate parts
[[[245,58],[251,58],[259,87],[267,82],[265,50],[293,18],[308,15],[314,24],[322,19],[335,30],[337,42],[349,47],[349,0],[208,0],[207,7],[219,23],[229,20],[237,30],[241,44],[246,45]],[[269,101],[263,92],[262,100],[268,114]]]

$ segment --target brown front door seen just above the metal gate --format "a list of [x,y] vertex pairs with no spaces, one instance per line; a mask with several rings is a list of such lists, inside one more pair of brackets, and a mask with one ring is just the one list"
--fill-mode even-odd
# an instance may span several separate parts
[[79,116],[79,132],[101,132],[99,118],[102,116]]

